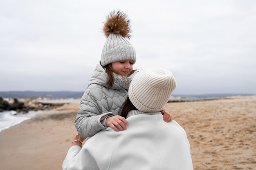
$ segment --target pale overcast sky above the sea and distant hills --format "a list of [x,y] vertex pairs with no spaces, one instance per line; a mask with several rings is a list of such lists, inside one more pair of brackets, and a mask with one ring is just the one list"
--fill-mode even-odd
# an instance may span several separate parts
[[134,68],[173,72],[173,94],[256,94],[254,0],[1,0],[0,91],[84,91],[103,21],[131,20]]

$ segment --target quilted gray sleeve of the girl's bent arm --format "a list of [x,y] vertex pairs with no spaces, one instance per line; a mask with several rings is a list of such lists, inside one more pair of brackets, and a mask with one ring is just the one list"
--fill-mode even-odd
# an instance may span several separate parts
[[99,89],[87,89],[81,98],[81,107],[75,119],[77,132],[84,137],[92,137],[106,126],[101,124],[101,118],[106,115],[115,116],[114,113],[103,113],[99,106],[102,97]]

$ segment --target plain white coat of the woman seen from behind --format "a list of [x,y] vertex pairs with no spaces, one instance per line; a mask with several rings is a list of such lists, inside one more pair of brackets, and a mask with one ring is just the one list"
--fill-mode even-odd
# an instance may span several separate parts
[[127,129],[100,131],[83,148],[72,146],[64,170],[193,170],[184,129],[162,114],[130,116]]

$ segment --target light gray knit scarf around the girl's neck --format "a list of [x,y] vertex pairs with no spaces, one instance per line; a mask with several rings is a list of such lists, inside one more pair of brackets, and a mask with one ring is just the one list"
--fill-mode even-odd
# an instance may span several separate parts
[[124,89],[128,90],[130,83],[132,81],[132,78],[137,74],[137,71],[130,74],[128,77],[121,76],[119,74],[116,74],[113,72],[114,82],[117,83],[120,87],[123,87]]

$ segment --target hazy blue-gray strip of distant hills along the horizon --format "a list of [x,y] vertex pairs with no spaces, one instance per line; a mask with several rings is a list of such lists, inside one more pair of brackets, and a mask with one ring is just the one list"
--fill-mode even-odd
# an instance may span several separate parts
[[[56,92],[40,92],[40,91],[9,91],[0,92],[0,96],[4,98],[81,98],[84,92],[56,91]],[[220,98],[227,96],[252,96],[255,94],[173,94],[173,97],[182,98]]]

